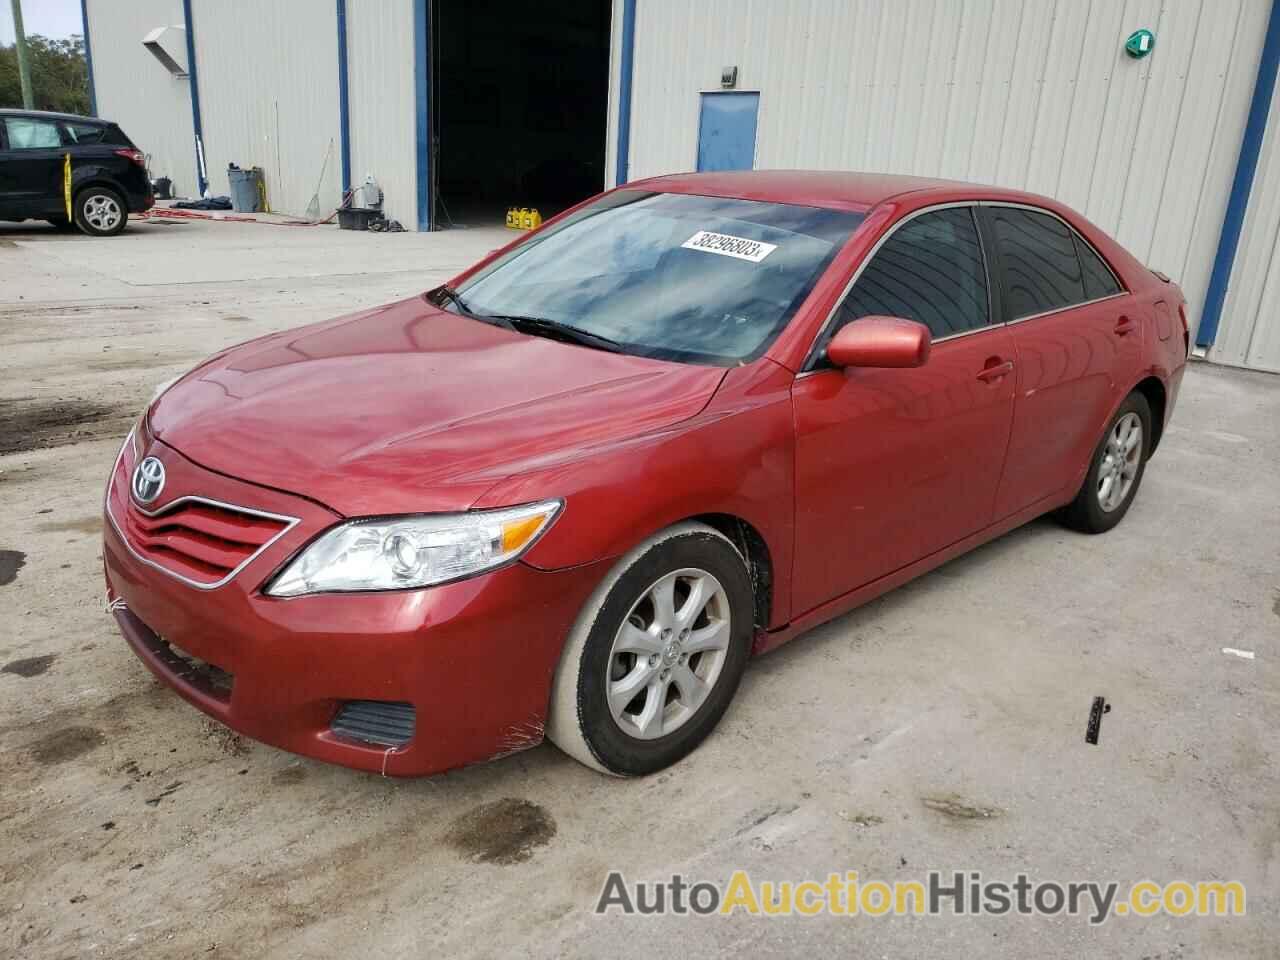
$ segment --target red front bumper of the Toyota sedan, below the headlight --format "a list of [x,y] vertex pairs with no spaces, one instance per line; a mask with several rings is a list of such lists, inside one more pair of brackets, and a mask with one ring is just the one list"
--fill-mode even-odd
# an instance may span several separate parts
[[[207,590],[142,562],[111,518],[104,524],[108,599],[120,631],[191,704],[265,744],[390,776],[436,773],[541,740],[561,646],[607,563],[550,572],[515,563],[421,590],[270,598],[261,584],[337,517],[204,471],[164,444],[150,452],[184,493],[302,517]],[[170,645],[216,667],[219,681],[192,671]],[[334,717],[352,700],[412,704],[412,737],[388,748],[334,732]]]

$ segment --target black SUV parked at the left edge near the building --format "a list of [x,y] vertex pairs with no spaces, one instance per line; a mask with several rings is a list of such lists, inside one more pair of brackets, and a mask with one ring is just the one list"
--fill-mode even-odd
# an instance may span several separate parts
[[131,212],[152,204],[146,156],[114,123],[0,110],[0,220],[49,220],[113,237]]

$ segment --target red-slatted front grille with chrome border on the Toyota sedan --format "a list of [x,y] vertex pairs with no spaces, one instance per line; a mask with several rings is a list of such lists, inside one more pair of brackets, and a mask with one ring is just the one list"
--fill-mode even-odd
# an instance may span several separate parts
[[154,513],[129,495],[124,451],[108,494],[108,515],[140,559],[201,589],[220,586],[297,521],[273,513],[180,497]]

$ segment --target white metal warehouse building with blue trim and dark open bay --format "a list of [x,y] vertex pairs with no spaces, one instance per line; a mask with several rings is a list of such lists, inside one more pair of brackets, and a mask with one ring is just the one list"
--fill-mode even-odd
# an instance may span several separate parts
[[180,193],[256,165],[301,214],[372,174],[430,229],[695,168],[998,183],[1280,371],[1280,0],[82,1],[96,110]]

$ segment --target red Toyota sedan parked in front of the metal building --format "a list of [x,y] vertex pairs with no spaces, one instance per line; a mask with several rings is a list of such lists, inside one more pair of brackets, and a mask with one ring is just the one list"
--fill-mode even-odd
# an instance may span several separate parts
[[545,733],[649,773],[753,653],[1042,513],[1120,522],[1187,352],[1176,284],[1044,197],[631,183],[159,392],[109,596],[156,676],[285,750],[425,774]]

